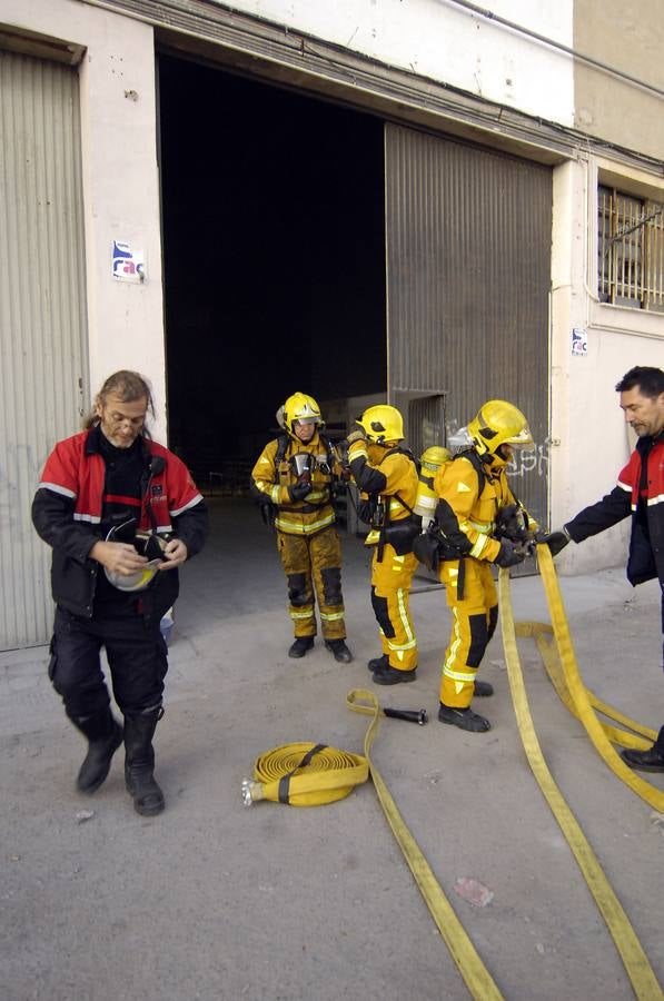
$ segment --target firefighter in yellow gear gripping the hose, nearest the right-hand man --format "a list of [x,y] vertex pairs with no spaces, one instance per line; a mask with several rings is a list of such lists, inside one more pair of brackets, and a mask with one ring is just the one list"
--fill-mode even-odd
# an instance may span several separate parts
[[533,444],[521,410],[505,400],[489,400],[468,425],[468,434],[473,447],[442,465],[434,480],[436,521],[444,538],[439,575],[453,618],[438,720],[482,733],[490,724],[473,712],[470,701],[474,694],[493,694],[487,682],[475,680],[498,621],[490,564],[507,567],[525,558],[508,538],[494,537],[496,518],[502,508],[517,505],[526,529],[533,532],[537,525],[518,505],[505,473],[512,449]]

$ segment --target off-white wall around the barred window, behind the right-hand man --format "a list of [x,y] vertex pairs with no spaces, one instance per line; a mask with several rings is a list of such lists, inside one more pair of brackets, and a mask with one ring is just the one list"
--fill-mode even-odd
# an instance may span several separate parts
[[[559,526],[613,489],[634,446],[618,394],[618,379],[634,365],[664,364],[664,316],[597,299],[596,190],[608,161],[579,158],[554,171],[552,244],[551,519]],[[623,170],[636,188],[646,178]],[[645,185],[642,190],[657,195]],[[660,185],[664,200],[664,184]],[[587,354],[572,351],[573,329],[585,330]],[[585,573],[614,566],[626,553],[630,524],[583,545],[568,546],[559,566]]]

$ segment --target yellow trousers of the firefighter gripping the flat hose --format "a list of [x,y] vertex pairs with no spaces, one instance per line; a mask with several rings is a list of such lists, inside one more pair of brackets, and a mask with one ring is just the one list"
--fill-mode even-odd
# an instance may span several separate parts
[[452,612],[452,636],[445,651],[440,678],[440,702],[454,708],[470,705],[475,675],[498,621],[498,594],[488,563],[467,556],[464,561],[463,598],[457,596],[459,561],[440,564]]

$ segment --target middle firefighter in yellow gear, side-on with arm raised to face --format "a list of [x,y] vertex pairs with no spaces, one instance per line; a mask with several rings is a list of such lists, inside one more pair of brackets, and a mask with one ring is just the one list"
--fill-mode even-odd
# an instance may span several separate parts
[[371,525],[366,544],[374,546],[371,605],[380,632],[383,655],[369,661],[380,685],[414,681],[417,640],[409,608],[409,591],[417,558],[413,539],[420,521],[413,514],[417,467],[399,448],[402,415],[395,407],[369,407],[348,435],[348,463],[360,490],[359,514]]

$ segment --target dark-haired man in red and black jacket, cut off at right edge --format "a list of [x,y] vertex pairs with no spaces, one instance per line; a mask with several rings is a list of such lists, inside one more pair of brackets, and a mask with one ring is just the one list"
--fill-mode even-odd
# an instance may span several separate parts
[[[664,371],[636,366],[615,388],[625,420],[638,436],[636,448],[610,494],[542,542],[555,556],[571,539],[583,542],[632,515],[627,579],[636,585],[658,577],[664,634]],[[647,751],[626,750],[622,756],[633,769],[664,772],[664,726]]]

